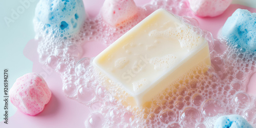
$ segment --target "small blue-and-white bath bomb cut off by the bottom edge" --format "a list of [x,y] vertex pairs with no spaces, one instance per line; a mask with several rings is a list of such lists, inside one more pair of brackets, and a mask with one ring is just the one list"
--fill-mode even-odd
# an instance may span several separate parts
[[215,124],[215,128],[253,128],[242,116],[228,115],[219,117]]

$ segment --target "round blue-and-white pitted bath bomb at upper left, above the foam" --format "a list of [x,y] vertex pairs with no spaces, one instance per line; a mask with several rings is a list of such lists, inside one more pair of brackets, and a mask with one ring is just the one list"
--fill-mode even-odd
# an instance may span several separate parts
[[82,0],[40,0],[35,10],[38,22],[65,35],[79,31],[85,17]]

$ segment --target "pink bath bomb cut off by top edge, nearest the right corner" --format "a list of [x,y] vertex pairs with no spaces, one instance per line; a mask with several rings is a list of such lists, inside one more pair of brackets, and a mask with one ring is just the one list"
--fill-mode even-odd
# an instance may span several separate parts
[[191,10],[201,17],[214,17],[222,14],[232,0],[188,0]]

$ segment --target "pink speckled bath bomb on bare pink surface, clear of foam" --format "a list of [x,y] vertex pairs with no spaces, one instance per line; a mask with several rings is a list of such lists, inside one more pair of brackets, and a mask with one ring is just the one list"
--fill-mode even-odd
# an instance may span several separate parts
[[9,92],[12,104],[31,116],[42,112],[51,96],[46,81],[37,73],[27,73],[19,77]]

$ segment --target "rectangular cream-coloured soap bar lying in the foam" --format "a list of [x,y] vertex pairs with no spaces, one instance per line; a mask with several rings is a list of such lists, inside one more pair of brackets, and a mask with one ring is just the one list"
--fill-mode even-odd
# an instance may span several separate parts
[[208,43],[191,26],[158,9],[95,57],[94,66],[131,95],[128,104],[142,106],[175,80],[204,63]]

